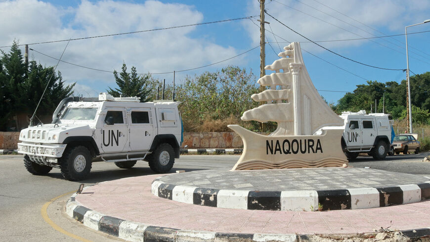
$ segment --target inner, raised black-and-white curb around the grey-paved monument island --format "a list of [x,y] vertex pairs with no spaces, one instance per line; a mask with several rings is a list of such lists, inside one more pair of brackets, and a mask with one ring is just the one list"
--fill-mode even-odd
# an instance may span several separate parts
[[[160,177],[161,178],[161,177]],[[156,178],[152,194],[173,201],[221,208],[325,211],[385,207],[430,198],[430,181],[386,188],[355,188],[320,191],[218,190],[166,184]]]

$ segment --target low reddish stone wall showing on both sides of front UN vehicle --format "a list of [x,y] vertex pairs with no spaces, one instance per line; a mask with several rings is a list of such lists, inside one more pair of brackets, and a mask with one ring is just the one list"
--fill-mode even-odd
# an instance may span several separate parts
[[[17,149],[19,132],[0,132],[0,149]],[[182,147],[188,148],[242,148],[239,135],[234,132],[184,133]]]

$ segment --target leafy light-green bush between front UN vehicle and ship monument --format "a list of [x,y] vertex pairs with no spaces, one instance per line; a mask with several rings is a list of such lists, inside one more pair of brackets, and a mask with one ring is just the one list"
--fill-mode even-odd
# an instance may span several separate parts
[[227,66],[216,72],[187,76],[176,88],[176,99],[183,120],[195,128],[205,120],[226,120],[233,117],[240,122],[243,112],[258,106],[251,95],[258,93],[256,76],[237,66]]

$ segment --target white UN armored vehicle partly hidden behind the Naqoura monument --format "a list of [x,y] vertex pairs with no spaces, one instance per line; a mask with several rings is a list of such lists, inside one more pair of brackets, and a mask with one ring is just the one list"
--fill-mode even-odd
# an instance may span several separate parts
[[[342,149],[349,160],[357,158],[359,153],[368,153],[375,159],[385,159],[392,154],[391,137],[393,137],[388,114],[359,112],[342,112],[344,126],[324,127],[323,129],[343,129]],[[321,129],[316,132],[320,134]]]

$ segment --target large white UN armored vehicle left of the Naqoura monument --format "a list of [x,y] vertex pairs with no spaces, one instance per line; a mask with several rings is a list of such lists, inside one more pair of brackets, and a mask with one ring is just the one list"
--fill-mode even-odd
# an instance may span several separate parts
[[131,168],[137,160],[145,160],[153,171],[166,173],[179,158],[178,104],[104,93],[98,98],[67,97],[51,124],[21,131],[18,153],[25,154],[30,173],[44,175],[56,167],[72,181],[85,179],[94,161]]

